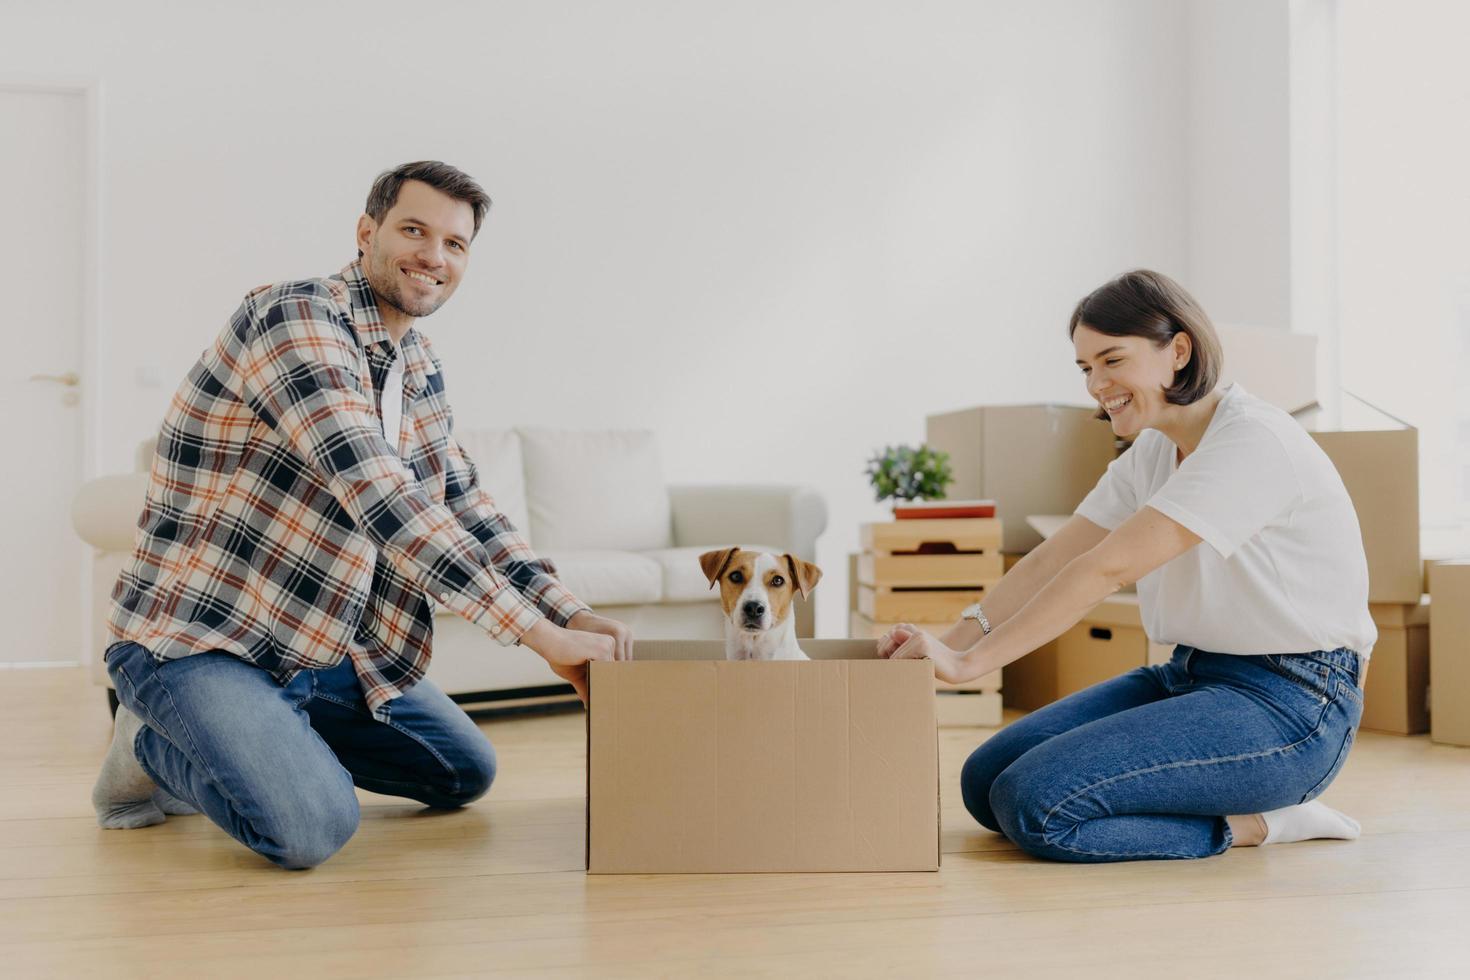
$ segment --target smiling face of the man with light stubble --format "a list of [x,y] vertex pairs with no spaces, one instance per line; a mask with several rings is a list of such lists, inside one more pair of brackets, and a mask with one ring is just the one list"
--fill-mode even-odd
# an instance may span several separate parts
[[[454,295],[475,234],[475,212],[422,181],[406,181],[379,225],[357,219],[363,275],[378,301],[410,317],[428,316]],[[384,310],[385,319],[395,319]]]

